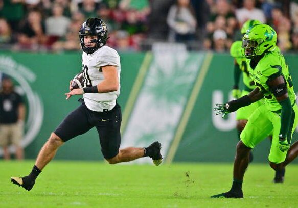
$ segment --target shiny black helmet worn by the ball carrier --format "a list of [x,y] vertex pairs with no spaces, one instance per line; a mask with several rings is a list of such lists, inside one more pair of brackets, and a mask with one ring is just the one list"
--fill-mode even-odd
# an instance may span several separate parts
[[[80,43],[82,50],[87,54],[92,54],[97,49],[106,44],[108,29],[102,19],[89,18],[82,24],[79,32]],[[86,47],[84,43],[84,36],[97,36],[96,39],[91,40],[91,43],[96,43],[94,47]]]

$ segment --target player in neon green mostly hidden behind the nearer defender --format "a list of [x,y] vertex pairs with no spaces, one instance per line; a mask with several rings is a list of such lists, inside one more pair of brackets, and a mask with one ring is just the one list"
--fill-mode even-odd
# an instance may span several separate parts
[[[247,20],[242,25],[240,32],[244,36],[246,31],[251,26],[253,26],[254,24],[261,24],[261,23],[262,22],[260,22],[259,20],[254,20],[254,19]],[[247,58],[242,54],[241,46],[242,46],[242,41],[238,40],[238,41],[235,41],[230,48],[230,54],[232,57],[234,57],[234,86],[232,90],[232,95],[236,99],[249,94],[249,92],[253,91],[256,88],[254,81],[249,76],[249,72],[246,66]],[[280,51],[278,46],[275,47],[275,50]],[[240,81],[241,74],[242,74],[242,81],[244,84],[244,89],[242,91],[239,89],[239,81]],[[240,134],[247,123],[248,117],[254,112],[254,110],[256,110],[259,106],[261,106],[262,103],[263,103],[263,99],[256,101],[254,103],[251,103],[249,106],[245,106],[236,111],[236,127],[238,131],[239,140],[240,140]],[[269,138],[272,141],[271,135],[272,133],[270,133]],[[250,151],[249,162],[251,161],[253,161],[253,154]],[[275,177],[273,178],[273,182],[283,183],[284,176],[285,176],[284,168],[280,171],[276,171]]]

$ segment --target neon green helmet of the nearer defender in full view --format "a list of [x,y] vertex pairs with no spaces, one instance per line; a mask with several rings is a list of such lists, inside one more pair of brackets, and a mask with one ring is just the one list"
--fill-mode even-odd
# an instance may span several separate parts
[[242,53],[246,58],[260,56],[274,49],[277,33],[267,24],[255,24],[250,27],[242,38]]

